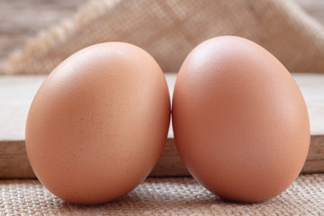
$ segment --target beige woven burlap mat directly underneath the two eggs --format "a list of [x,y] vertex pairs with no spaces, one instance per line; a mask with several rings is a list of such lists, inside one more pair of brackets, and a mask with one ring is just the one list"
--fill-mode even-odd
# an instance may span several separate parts
[[222,202],[193,178],[148,178],[121,199],[69,204],[36,180],[0,181],[0,215],[324,215],[324,174],[301,175],[268,202]]

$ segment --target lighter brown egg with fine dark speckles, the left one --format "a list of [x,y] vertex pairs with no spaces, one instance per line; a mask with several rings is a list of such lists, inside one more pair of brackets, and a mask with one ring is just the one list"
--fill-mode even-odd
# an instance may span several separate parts
[[36,94],[26,148],[41,184],[67,202],[109,202],[129,193],[166,143],[170,98],[143,49],[107,42],[55,68]]

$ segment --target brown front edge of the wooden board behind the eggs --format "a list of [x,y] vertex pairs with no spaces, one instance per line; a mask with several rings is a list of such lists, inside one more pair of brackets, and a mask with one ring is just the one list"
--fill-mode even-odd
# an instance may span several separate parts
[[[324,173],[324,135],[311,136],[311,147],[302,173]],[[157,165],[149,176],[189,176],[189,172],[179,157],[175,139],[168,138],[166,147]],[[31,165],[26,154],[24,140],[0,141],[0,178],[34,178]]]

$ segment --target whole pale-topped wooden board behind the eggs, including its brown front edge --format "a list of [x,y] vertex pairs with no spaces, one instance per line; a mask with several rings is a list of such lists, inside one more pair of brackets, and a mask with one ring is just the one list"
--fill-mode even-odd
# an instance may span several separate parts
[[[324,172],[324,75],[294,74],[311,119],[311,149],[304,173]],[[31,100],[46,76],[0,76],[0,178],[33,177],[24,147],[24,125]],[[173,94],[175,73],[166,74]],[[166,148],[151,176],[188,175],[170,129]]]

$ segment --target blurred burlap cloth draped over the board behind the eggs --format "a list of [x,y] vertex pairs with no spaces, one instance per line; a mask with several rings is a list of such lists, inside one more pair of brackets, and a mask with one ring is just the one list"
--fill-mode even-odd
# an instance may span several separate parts
[[146,49],[163,71],[176,72],[196,45],[229,34],[256,41],[290,71],[324,72],[324,28],[288,0],[95,0],[41,31],[5,68],[48,74],[79,49],[118,40]]

